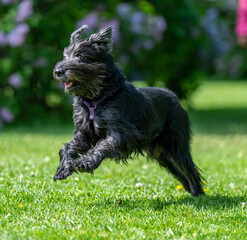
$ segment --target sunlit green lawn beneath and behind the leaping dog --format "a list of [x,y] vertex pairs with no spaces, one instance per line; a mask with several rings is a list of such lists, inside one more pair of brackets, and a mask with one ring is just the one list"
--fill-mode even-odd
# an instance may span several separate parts
[[205,82],[192,99],[193,157],[206,197],[178,190],[143,157],[53,182],[72,126],[5,129],[0,239],[246,239],[246,93],[246,82]]

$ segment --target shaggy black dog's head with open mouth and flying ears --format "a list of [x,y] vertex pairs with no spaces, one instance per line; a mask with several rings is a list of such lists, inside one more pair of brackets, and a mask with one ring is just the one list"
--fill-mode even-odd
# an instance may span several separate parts
[[105,79],[114,71],[112,28],[83,39],[83,25],[71,34],[70,45],[64,49],[64,59],[53,70],[54,78],[64,84],[64,91],[76,96],[93,99],[100,95]]

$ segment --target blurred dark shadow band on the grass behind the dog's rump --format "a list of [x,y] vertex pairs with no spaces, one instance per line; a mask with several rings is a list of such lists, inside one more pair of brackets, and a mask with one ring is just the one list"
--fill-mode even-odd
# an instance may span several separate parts
[[194,133],[247,134],[247,108],[189,110]]

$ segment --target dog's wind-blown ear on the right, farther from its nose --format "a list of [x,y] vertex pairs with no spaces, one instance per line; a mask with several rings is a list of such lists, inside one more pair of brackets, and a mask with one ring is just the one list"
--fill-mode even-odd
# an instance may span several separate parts
[[96,47],[101,46],[106,52],[110,53],[112,50],[112,27],[103,28],[100,32],[92,34],[89,41]]

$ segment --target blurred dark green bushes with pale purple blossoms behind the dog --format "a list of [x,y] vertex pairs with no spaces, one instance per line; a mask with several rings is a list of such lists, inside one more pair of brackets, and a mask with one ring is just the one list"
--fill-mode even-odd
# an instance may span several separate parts
[[244,79],[237,0],[0,0],[0,128],[71,121],[71,97],[52,77],[72,31],[114,28],[129,81],[167,87],[189,102],[202,79]]

